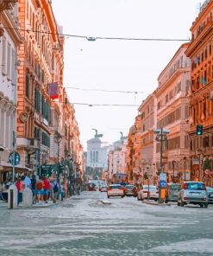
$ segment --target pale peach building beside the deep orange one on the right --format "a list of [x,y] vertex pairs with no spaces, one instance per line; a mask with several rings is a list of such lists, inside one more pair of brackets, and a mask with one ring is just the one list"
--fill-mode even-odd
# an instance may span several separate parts
[[[172,60],[161,72],[155,91],[157,99],[157,129],[169,130],[163,142],[163,172],[168,182],[189,180],[189,94],[190,65],[185,55],[188,44],[185,43],[174,54]],[[154,139],[156,151],[153,161],[160,170],[160,142]]]

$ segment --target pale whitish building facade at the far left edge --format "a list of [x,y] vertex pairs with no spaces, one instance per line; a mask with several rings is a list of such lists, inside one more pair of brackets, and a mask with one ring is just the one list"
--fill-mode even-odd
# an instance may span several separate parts
[[[0,1],[0,182],[12,170],[9,155],[16,149],[17,48],[22,43],[16,2]],[[16,170],[23,167],[19,164]]]

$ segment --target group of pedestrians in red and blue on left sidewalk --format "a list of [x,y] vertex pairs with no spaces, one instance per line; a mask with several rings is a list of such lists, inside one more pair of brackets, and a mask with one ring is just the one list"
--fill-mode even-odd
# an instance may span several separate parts
[[49,180],[47,176],[36,178],[34,175],[26,174],[18,176],[15,184],[18,190],[18,203],[22,202],[22,193],[26,188],[32,190],[33,203],[47,202],[48,200],[56,202],[59,197],[63,200],[66,196],[64,183],[60,183],[56,179]]

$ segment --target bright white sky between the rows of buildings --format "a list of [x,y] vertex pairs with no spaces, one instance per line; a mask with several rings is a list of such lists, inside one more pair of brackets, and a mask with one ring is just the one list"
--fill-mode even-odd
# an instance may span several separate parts
[[[55,18],[66,35],[188,40],[198,6],[204,0],[53,0],[52,3]],[[66,36],[64,86],[70,102],[74,103],[84,150],[86,141],[95,135],[92,129],[97,129],[98,134],[103,134],[103,141],[109,143],[118,140],[121,131],[128,136],[138,106],[157,88],[158,76],[182,43],[103,39],[91,42]]]

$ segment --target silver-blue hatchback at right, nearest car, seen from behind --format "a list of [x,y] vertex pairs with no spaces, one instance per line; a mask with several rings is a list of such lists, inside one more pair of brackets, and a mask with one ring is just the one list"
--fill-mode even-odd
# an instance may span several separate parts
[[184,182],[178,195],[178,206],[198,204],[201,208],[208,208],[208,195],[204,182]]

